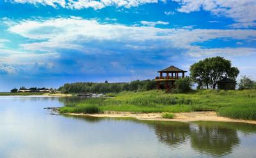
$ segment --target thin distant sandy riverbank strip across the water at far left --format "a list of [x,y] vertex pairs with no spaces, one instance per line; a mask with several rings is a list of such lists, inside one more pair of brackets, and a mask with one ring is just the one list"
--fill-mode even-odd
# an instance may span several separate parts
[[42,92],[0,92],[0,96],[72,96],[72,94],[63,94],[63,93],[42,93]]

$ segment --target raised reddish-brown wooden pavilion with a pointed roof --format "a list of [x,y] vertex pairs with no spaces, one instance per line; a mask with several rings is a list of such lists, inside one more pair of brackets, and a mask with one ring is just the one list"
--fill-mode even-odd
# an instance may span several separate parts
[[[175,81],[178,80],[179,78],[184,78],[185,73],[188,71],[184,71],[182,69],[176,68],[175,66],[170,66],[168,68],[165,68],[157,72],[160,73],[160,76],[157,76],[155,79],[155,81],[157,82],[157,89],[160,89],[161,82],[164,82],[166,92],[169,92],[175,89]],[[182,76],[179,76],[180,74],[182,74]]]

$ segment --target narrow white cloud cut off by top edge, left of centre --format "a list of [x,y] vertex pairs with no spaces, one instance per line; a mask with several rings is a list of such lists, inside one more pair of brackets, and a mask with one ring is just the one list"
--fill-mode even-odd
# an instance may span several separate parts
[[94,10],[100,10],[107,6],[116,7],[138,7],[141,4],[158,3],[159,1],[165,2],[165,0],[9,0],[13,3],[30,3],[30,4],[42,4],[45,6],[52,6],[57,8],[61,6],[63,8],[81,10],[84,8],[93,8]]

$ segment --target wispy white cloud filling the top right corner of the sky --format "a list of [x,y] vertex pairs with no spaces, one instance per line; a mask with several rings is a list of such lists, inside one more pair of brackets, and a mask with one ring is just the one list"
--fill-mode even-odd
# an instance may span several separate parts
[[173,0],[181,6],[177,10],[184,13],[191,11],[211,11],[213,15],[233,18],[237,24],[231,27],[255,27],[255,0]]

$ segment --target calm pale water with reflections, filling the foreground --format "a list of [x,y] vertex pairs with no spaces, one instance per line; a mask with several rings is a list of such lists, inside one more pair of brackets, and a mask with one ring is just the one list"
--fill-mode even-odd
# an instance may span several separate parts
[[256,126],[50,115],[77,98],[0,97],[0,157],[256,157]]

